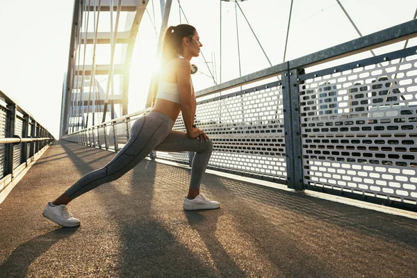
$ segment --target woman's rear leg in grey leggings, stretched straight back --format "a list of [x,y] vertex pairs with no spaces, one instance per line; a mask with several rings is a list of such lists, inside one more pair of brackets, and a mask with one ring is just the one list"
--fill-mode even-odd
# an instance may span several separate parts
[[[138,165],[158,143],[169,134],[172,125],[161,117],[140,117],[131,128],[131,137],[119,153],[104,167],[85,174],[73,186],[65,191],[66,201],[70,201],[96,188],[97,186],[119,179]],[[59,197],[55,205],[65,201]],[[65,204],[65,203],[63,203]]]

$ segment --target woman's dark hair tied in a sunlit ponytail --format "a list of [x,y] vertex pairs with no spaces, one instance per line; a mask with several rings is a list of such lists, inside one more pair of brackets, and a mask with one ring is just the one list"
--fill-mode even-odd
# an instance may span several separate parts
[[163,39],[161,62],[164,64],[171,58],[177,57],[182,51],[183,38],[187,37],[191,40],[194,34],[194,26],[188,24],[179,24],[167,28]]

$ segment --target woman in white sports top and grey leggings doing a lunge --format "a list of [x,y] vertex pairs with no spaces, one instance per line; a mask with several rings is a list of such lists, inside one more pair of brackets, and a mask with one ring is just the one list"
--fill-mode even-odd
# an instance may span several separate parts
[[[219,208],[220,204],[199,194],[199,185],[211,156],[213,143],[204,131],[194,125],[195,92],[191,81],[190,60],[199,56],[199,35],[193,26],[170,26],[165,33],[158,88],[152,111],[140,117],[131,127],[131,137],[120,152],[99,170],[86,174],[54,202],[49,202],[43,215],[63,227],[79,226],[67,204],[97,186],[115,181],[142,161],[152,150],[162,152],[196,152],[191,167],[190,188],[183,199],[186,210]],[[187,132],[172,131],[182,112]]]

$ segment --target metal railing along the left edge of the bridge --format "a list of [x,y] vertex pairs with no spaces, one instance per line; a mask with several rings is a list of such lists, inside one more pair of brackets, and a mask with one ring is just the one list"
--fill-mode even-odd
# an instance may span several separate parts
[[1,193],[54,137],[1,91],[0,127]]

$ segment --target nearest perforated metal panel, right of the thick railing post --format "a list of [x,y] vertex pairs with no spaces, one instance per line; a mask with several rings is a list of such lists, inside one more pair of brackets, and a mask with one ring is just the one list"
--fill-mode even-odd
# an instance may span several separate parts
[[304,183],[416,204],[417,55],[306,79],[300,117]]

